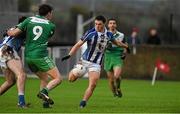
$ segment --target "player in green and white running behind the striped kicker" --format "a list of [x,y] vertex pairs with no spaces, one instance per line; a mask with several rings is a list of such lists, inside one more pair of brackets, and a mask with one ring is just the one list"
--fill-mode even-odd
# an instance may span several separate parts
[[[108,20],[109,31],[113,33],[113,37],[121,42],[124,42],[124,34],[117,31],[117,24],[115,19]],[[124,57],[124,48],[117,47],[116,45],[110,43],[105,52],[104,69],[107,72],[109,79],[109,86],[114,94],[114,96],[122,97],[122,92],[120,89],[121,83],[121,72]]]

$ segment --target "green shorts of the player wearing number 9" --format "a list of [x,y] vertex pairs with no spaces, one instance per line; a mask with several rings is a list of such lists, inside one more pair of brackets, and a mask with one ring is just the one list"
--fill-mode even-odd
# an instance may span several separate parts
[[43,57],[39,59],[25,58],[27,65],[32,72],[46,72],[55,67],[54,62],[49,57]]

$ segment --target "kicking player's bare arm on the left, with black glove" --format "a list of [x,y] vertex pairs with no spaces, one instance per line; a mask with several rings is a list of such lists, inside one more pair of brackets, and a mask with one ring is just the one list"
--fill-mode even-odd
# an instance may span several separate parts
[[64,56],[61,61],[69,59],[72,55],[74,55],[78,49],[84,44],[82,40],[79,40],[70,50],[69,54]]

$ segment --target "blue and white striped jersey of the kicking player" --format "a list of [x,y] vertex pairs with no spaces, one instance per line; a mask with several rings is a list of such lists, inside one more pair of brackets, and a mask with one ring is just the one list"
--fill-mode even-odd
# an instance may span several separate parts
[[85,33],[81,40],[87,42],[87,49],[82,58],[86,61],[101,64],[107,44],[109,41],[113,41],[114,37],[106,29],[104,33],[101,33],[92,28]]

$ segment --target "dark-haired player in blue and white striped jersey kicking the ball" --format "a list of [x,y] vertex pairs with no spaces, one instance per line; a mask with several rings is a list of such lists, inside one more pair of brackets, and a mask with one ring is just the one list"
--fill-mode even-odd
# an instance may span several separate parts
[[[62,61],[69,59],[85,42],[87,42],[87,49],[82,55],[81,62],[88,71],[89,85],[85,91],[82,101],[80,102],[81,108],[86,106],[86,102],[93,94],[93,91],[97,85],[97,81],[100,77],[102,58],[108,42],[112,41],[114,44],[120,47],[122,46],[128,48],[128,45],[116,41],[113,38],[112,33],[107,31],[105,28],[106,19],[104,16],[97,16],[94,22],[95,28],[86,32],[81,40],[72,47],[69,55],[62,58]],[[69,80],[73,81],[73,79],[77,79],[77,76],[71,71],[69,74]]]

